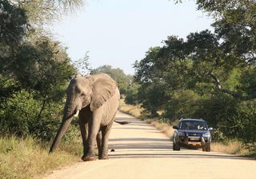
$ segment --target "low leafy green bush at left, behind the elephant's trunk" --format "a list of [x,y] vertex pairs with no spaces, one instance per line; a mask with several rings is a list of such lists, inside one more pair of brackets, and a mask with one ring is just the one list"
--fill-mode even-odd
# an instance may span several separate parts
[[[32,135],[44,141],[54,137],[62,120],[63,105],[54,101],[43,104],[45,101],[34,99],[33,94],[22,90],[1,105],[1,133],[13,133],[19,137]],[[75,140],[77,136],[78,127],[70,126],[64,140]]]

